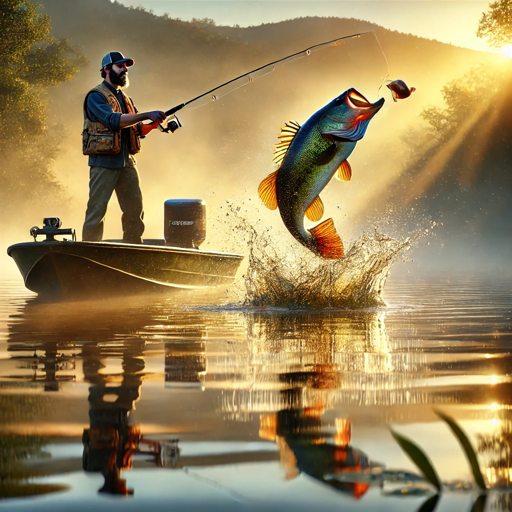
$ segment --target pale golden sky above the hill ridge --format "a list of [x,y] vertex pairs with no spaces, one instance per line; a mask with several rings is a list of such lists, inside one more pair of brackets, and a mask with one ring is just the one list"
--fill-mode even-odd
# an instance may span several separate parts
[[119,0],[155,14],[218,25],[260,25],[301,16],[354,17],[391,30],[487,50],[475,31],[489,0]]

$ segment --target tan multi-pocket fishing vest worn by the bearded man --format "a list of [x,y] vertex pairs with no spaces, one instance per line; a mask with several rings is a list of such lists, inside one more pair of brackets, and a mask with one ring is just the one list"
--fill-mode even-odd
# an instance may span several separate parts
[[[122,114],[121,105],[117,100],[116,95],[100,83],[99,86],[91,89],[83,102],[83,132],[82,132],[82,153],[84,155],[117,155],[121,151],[121,129],[117,132],[112,132],[100,121],[91,121],[87,116],[87,99],[93,92],[100,92],[109,102],[114,112]],[[124,97],[124,103],[129,114],[135,114],[135,106],[132,98],[126,96],[121,91]],[[138,123],[142,124],[142,123]],[[137,125],[130,126],[130,153],[135,155],[140,151],[140,134]]]

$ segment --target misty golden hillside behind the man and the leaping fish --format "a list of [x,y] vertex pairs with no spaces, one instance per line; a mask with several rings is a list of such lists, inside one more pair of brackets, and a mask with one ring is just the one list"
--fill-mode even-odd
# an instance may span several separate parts
[[[90,60],[78,80],[49,95],[49,123],[68,127],[67,150],[56,161],[55,172],[75,198],[65,214],[66,225],[74,227],[83,222],[88,194],[87,159],[81,155],[79,136],[82,101],[101,81],[100,62],[108,51],[118,50],[135,59],[127,92],[139,111],[165,110],[307,46],[374,30],[389,62],[390,78],[405,79],[417,91],[409,100],[393,103],[389,91],[380,90],[387,102],[350,158],[352,181],[329,184],[322,194],[326,218],[334,217],[344,239],[358,234],[361,205],[381,197],[402,172],[399,134],[417,122],[424,106],[441,102],[440,90],[447,81],[471,66],[500,59],[356,19],[311,17],[259,27],[217,27],[154,16],[109,0],[76,2],[71,8],[68,0],[40,1],[52,18],[54,35],[81,46]],[[349,87],[375,101],[386,72],[377,40],[368,34],[348,39],[341,47],[314,52],[201,109],[182,111],[183,128],[174,135],[152,133],[143,141],[138,158],[146,236],[161,236],[162,203],[170,197],[206,199],[210,233],[219,232],[212,243],[219,248],[226,248],[220,241],[229,230],[220,210],[226,199],[236,198],[249,220],[276,224],[278,214],[260,204],[257,187],[275,168],[271,156],[280,127],[289,119],[304,122]],[[34,220],[42,215],[46,211],[36,207]],[[109,213],[105,236],[117,236],[119,230],[119,216]],[[291,243],[284,228],[283,237]]]

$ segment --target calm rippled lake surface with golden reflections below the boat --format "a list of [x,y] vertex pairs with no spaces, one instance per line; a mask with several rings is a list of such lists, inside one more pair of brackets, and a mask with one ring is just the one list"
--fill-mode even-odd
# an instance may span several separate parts
[[[512,510],[512,283],[388,281],[385,297],[48,304],[3,280],[0,508]],[[486,500],[435,409],[478,449]],[[390,428],[429,455],[437,504]]]

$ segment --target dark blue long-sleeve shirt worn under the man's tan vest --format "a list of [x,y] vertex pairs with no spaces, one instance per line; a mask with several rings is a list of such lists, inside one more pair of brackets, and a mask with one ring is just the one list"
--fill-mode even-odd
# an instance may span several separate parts
[[[120,89],[114,89],[106,80],[103,84],[108,87],[117,97],[123,114],[128,114],[124,104],[124,97]],[[138,113],[138,110],[135,109]],[[110,103],[98,91],[94,91],[87,98],[87,115],[91,121],[100,121],[109,130],[119,131],[121,113],[114,112]],[[130,154],[130,128],[121,129],[121,151],[117,155],[89,155],[89,165],[98,167],[109,167],[119,169],[121,167],[135,167],[137,161]]]

